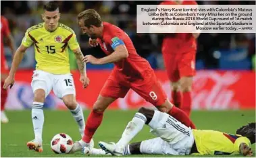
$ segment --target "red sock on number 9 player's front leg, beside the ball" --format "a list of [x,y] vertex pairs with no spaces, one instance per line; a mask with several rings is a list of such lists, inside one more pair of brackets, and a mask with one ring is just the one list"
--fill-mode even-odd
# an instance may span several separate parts
[[90,143],[91,139],[93,138],[93,134],[95,134],[95,131],[101,124],[102,119],[103,112],[95,112],[93,110],[91,111],[86,121],[82,141],[84,141],[85,143]]

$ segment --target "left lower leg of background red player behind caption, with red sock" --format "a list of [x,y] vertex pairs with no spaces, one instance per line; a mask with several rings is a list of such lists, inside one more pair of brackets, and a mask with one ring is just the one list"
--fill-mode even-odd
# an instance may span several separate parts
[[180,108],[182,107],[182,93],[180,91],[180,82],[171,82],[172,85],[172,101],[174,106]]

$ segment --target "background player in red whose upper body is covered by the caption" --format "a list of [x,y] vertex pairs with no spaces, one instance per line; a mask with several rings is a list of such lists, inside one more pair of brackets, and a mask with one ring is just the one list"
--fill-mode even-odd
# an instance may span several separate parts
[[[163,1],[160,5],[197,5],[196,1]],[[199,33],[166,34],[162,54],[172,85],[172,100],[175,106],[190,116],[191,88],[195,75],[195,56]]]

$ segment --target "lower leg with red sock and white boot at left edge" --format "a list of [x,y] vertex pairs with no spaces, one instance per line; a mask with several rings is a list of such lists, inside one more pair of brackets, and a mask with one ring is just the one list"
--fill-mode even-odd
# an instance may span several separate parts
[[5,102],[7,100],[7,89],[3,89],[3,83],[7,78],[7,74],[1,73],[1,122],[8,123],[9,119],[5,114]]

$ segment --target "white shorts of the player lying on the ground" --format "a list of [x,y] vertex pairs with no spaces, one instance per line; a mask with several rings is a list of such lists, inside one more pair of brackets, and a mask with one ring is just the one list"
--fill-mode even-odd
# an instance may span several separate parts
[[195,141],[191,128],[186,127],[172,116],[155,110],[149,122],[155,139],[142,141],[140,152],[161,155],[189,155]]

